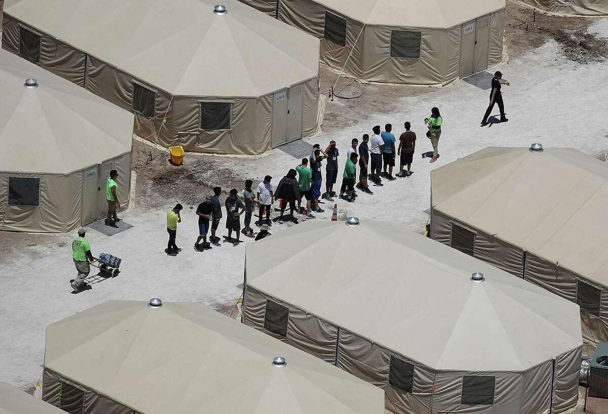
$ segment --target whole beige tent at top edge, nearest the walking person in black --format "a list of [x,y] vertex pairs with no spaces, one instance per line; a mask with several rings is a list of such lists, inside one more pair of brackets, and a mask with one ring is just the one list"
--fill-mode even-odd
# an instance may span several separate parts
[[322,63],[364,81],[446,85],[503,59],[505,0],[241,1],[320,38]]

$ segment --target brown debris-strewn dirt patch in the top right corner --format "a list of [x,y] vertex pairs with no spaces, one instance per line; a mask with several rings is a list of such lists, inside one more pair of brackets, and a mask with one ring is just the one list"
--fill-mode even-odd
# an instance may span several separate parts
[[511,57],[553,39],[568,60],[581,64],[602,61],[608,58],[608,39],[587,33],[592,23],[588,18],[550,16],[513,1],[506,3],[505,30]]

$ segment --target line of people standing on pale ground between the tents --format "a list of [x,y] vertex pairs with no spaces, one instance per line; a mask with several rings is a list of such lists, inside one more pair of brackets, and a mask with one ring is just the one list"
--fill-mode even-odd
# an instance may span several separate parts
[[[427,126],[427,137],[433,147],[430,162],[435,162],[439,157],[438,143],[441,136],[441,125],[443,119],[438,108],[432,108],[431,114],[424,119]],[[396,138],[393,135],[393,127],[387,123],[384,131],[376,125],[372,128],[373,134],[370,138],[368,134],[364,134],[362,142],[358,139],[351,141],[351,147],[348,148],[347,160],[342,173],[342,184],[340,185],[339,198],[348,202],[354,202],[358,197],[357,190],[363,193],[373,195],[373,191],[369,188],[369,182],[380,187],[382,178],[388,181],[395,181],[398,178],[409,178],[413,171],[412,162],[413,154],[416,148],[416,133],[411,130],[410,122],[404,123],[405,131],[399,136],[399,145],[396,147]],[[280,216],[275,220],[278,223],[283,221],[292,221],[297,223],[295,218],[295,210],[299,214],[305,215],[308,219],[316,218],[313,213],[322,213],[319,204],[320,201],[333,202],[336,197],[334,185],[338,178],[338,158],[340,152],[336,147],[336,142],[331,140],[325,150],[322,150],[319,144],[313,145],[313,151],[308,158],[303,158],[300,165],[291,168],[288,173],[279,181],[275,189],[272,184],[272,177],[267,175],[264,180],[258,184],[255,191],[252,188],[253,181],[246,180],[243,190],[243,198],[238,196],[238,190],[232,188],[229,196],[224,201],[226,207],[226,229],[228,235],[224,236],[224,242],[232,243],[233,246],[238,246],[241,243],[241,234],[247,237],[255,237],[255,240],[260,240],[269,236],[269,227],[272,226],[271,212],[272,205],[275,199],[280,200]],[[393,168],[395,167],[395,159],[399,156],[399,173],[393,176]],[[423,157],[425,154],[423,154]],[[323,162],[325,162],[325,188],[323,188]],[[359,166],[359,174],[357,174],[357,166]],[[356,189],[355,189],[356,188]],[[213,188],[213,195],[206,196],[205,201],[201,202],[196,209],[198,215],[199,236],[194,244],[194,249],[197,252],[212,249],[213,246],[221,246],[221,239],[216,235],[219,227],[219,222],[223,218],[221,202],[221,187]],[[302,201],[305,200],[305,205]],[[297,205],[297,207],[296,207]],[[285,210],[289,206],[289,215],[285,218]],[[177,204],[173,209],[167,212],[167,232],[169,240],[165,253],[170,256],[178,255],[182,249],[176,245],[176,235],[178,223],[181,223],[181,212],[183,207]],[[257,234],[251,227],[252,217],[254,212],[258,210],[260,232]],[[244,214],[244,228],[241,229],[241,215]],[[207,235],[209,241],[207,241]],[[233,233],[235,238],[233,238]]]

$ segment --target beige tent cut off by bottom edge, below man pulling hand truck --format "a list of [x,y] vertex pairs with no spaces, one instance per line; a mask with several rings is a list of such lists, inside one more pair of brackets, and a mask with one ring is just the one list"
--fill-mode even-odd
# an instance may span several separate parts
[[49,325],[43,399],[70,414],[384,414],[364,381],[199,303],[159,302]]

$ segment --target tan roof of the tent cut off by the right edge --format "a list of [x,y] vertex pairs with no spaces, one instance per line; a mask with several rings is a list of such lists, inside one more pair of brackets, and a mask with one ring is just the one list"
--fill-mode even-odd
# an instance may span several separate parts
[[606,163],[572,148],[485,148],[431,178],[435,209],[608,285]]

